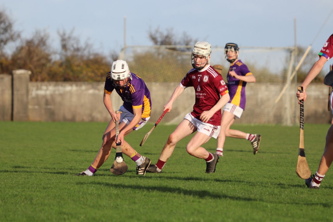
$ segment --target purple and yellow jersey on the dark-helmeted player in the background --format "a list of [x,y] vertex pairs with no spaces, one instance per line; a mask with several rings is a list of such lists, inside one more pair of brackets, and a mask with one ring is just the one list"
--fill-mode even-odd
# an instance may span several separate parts
[[[239,76],[252,75],[250,70],[247,68],[247,66],[244,63],[242,63],[241,60],[238,60],[235,64],[230,66],[229,72],[230,71],[235,71],[236,74]],[[227,74],[228,89],[230,96],[229,103],[239,106],[244,110],[246,103],[246,97],[245,97],[246,82],[230,76],[229,72]]]

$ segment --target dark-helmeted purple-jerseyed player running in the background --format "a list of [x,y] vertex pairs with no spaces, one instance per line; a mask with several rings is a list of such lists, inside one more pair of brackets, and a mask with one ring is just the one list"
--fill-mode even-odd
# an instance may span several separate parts
[[227,43],[224,47],[225,57],[230,62],[227,74],[230,100],[225,105],[222,113],[221,131],[217,137],[216,153],[223,156],[223,145],[225,137],[242,138],[251,141],[253,154],[259,149],[261,136],[258,134],[244,133],[239,130],[230,129],[235,118],[240,118],[245,109],[245,86],[247,82],[255,82],[255,77],[247,66],[238,59],[239,47],[235,43]]

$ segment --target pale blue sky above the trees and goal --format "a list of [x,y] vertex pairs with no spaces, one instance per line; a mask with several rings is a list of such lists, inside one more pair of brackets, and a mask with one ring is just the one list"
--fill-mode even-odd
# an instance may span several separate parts
[[[0,7],[15,20],[23,36],[45,29],[58,44],[57,30],[75,28],[74,34],[82,41],[89,39],[95,48],[109,53],[120,51],[124,45],[124,16],[127,45],[152,45],[148,30],[160,27],[163,31],[173,28],[179,36],[186,32],[212,45],[293,46],[296,18],[297,43],[307,47],[333,9],[333,1],[1,0]],[[319,52],[332,33],[333,14],[312,49]]]

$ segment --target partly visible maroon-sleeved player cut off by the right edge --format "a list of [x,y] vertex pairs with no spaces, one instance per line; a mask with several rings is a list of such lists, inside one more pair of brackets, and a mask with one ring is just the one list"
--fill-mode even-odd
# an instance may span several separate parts
[[[321,69],[323,68],[324,64],[333,57],[333,34],[328,38],[326,43],[324,44],[323,48],[319,52],[319,59],[315,62],[310,69],[308,75],[304,79],[301,86],[303,86],[303,92],[300,93],[299,91],[296,93],[298,100],[306,100],[306,89],[310,82],[319,74]],[[300,104],[300,102],[299,102]],[[333,125],[328,129],[326,135],[326,144],[324,153],[321,157],[318,170],[315,174],[313,174],[310,178],[305,180],[305,184],[308,188],[315,188],[318,189],[322,179],[324,178],[328,168],[330,167],[333,161]]]

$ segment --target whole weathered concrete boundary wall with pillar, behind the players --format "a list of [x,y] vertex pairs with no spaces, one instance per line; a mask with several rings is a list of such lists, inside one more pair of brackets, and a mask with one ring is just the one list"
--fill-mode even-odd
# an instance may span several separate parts
[[[13,76],[13,84],[12,84]],[[16,71],[13,75],[0,75],[0,120],[18,121],[97,121],[107,122],[110,115],[103,104],[104,82],[28,82],[29,71]],[[179,83],[147,83],[152,96],[151,123],[163,112],[174,88]],[[12,85],[14,86],[12,90]],[[295,90],[287,92],[275,104],[281,86],[248,84],[247,102],[241,119],[235,123],[299,123],[299,105]],[[327,110],[328,87],[312,83],[307,89],[305,123],[330,123],[332,114]],[[13,97],[12,97],[13,95]],[[114,109],[122,105],[117,93],[111,94]],[[12,101],[14,106],[12,108]],[[163,122],[179,123],[192,110],[194,89],[186,89],[174,102],[172,112]],[[13,112],[12,112],[13,110]]]

